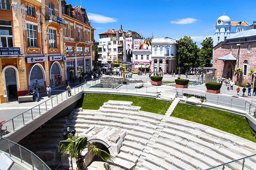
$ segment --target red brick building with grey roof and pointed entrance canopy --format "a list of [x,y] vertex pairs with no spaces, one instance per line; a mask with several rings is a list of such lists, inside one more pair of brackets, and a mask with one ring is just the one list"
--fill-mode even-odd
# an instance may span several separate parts
[[239,81],[252,83],[248,76],[251,70],[256,70],[256,29],[237,32],[226,41],[222,41],[213,48],[213,67],[217,69],[216,77],[231,78],[237,81],[234,70],[242,68],[243,73]]

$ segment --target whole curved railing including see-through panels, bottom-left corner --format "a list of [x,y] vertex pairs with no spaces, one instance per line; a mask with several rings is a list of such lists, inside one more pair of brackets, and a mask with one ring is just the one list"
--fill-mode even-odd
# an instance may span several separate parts
[[4,152],[7,156],[13,158],[13,160],[18,161],[21,164],[22,163],[26,164],[31,169],[38,169],[38,170],[41,170],[41,169],[42,170],[50,170],[51,169],[49,166],[47,166],[43,162],[43,160],[41,160],[33,152],[22,147],[18,143],[15,143],[6,138],[0,137],[0,151]]

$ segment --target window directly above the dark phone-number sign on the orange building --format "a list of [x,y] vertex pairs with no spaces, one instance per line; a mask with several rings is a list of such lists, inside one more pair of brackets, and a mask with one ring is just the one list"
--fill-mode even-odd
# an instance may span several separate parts
[[12,21],[0,20],[1,43],[3,47],[13,47]]

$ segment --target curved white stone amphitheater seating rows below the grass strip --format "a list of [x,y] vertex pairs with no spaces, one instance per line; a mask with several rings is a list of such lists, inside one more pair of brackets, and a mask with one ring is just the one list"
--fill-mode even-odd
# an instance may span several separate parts
[[[217,129],[165,115],[140,111],[129,101],[108,101],[98,111],[74,112],[71,128],[79,135],[100,139],[93,129],[122,130],[118,143],[104,140],[117,149],[114,165],[124,169],[206,169],[253,155],[256,143]],[[110,133],[110,132],[109,132]],[[92,136],[95,134],[95,136]],[[102,137],[103,138],[103,137]],[[256,159],[247,168],[255,169]],[[225,169],[236,169],[232,164]]]

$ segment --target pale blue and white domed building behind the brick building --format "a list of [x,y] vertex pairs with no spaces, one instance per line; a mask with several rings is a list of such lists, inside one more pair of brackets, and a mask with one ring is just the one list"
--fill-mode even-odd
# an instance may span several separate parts
[[250,25],[247,22],[233,22],[225,13],[220,16],[215,24],[215,34],[213,38],[213,46],[217,45],[221,41],[226,41],[231,34],[249,30]]

